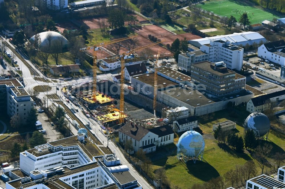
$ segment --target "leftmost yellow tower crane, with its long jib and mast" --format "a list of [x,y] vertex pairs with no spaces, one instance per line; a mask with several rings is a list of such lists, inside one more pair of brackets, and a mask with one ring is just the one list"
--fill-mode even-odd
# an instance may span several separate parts
[[92,45],[86,48],[80,49],[80,51],[86,51],[89,49],[93,49],[93,91],[92,91],[92,96],[93,96],[93,101],[96,102],[96,84],[97,84],[97,72],[96,72],[96,63],[97,63],[97,51],[99,50],[99,47],[103,47],[104,45],[111,45],[113,43],[118,43],[120,41],[125,41],[127,39],[133,39],[137,37],[138,35],[131,35],[129,37],[124,37],[120,39],[114,39],[111,41],[103,42],[103,43],[98,43],[96,45]]

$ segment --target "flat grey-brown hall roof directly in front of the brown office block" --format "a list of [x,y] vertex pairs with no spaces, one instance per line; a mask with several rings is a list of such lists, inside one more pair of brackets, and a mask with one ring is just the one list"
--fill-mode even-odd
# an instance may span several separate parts
[[199,91],[182,87],[174,87],[174,88],[167,88],[162,93],[172,96],[173,98],[176,98],[186,104],[189,104],[193,107],[203,106],[207,104],[211,104],[214,102],[222,101],[218,98],[210,98],[209,96],[206,96],[205,94],[202,95]]

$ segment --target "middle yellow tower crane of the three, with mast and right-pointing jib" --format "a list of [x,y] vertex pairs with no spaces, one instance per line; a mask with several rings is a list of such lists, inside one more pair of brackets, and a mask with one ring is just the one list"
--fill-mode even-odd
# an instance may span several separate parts
[[161,40],[161,41],[157,41],[155,43],[149,44],[149,45],[145,45],[143,47],[138,47],[135,48],[131,51],[127,51],[126,53],[121,54],[119,57],[121,57],[121,84],[120,84],[120,114],[119,114],[119,123],[123,123],[124,122],[124,98],[125,98],[125,94],[124,94],[124,85],[125,85],[125,59],[127,58],[127,55],[132,54],[136,51],[142,51],[148,47],[152,47],[154,45],[157,45],[159,43],[163,43],[166,40]]

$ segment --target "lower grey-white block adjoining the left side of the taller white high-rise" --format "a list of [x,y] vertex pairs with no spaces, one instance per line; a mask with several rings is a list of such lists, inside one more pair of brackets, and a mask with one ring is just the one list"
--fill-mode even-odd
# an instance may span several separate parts
[[184,72],[191,72],[191,64],[208,60],[209,55],[202,51],[191,51],[178,55],[178,69]]

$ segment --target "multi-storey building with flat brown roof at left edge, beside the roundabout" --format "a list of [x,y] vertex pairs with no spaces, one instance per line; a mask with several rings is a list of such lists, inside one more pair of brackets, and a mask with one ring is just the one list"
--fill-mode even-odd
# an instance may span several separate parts
[[0,80],[0,108],[7,115],[21,115],[21,123],[26,123],[28,111],[33,107],[34,101],[17,79]]

